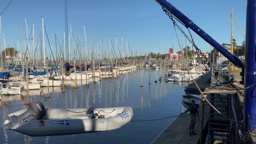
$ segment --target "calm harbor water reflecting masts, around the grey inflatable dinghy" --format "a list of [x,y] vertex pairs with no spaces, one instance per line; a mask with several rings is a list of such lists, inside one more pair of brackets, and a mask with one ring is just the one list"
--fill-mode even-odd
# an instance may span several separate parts
[[[151,84],[149,85],[148,69],[143,69],[143,87],[141,85],[141,71],[119,75],[117,78],[102,79],[96,83],[89,83],[89,87],[82,85],[78,88],[66,87],[66,93],[60,93],[60,88],[50,88],[51,98],[46,98],[47,88],[43,93],[34,91],[29,101],[40,100],[45,107],[51,108],[89,108],[96,107],[122,107],[133,108],[132,120],[150,120],[179,115],[184,109],[181,100],[186,84],[182,83],[155,83],[155,70],[151,70]],[[157,80],[159,79],[157,71]],[[78,81],[79,83],[79,81]],[[86,99],[88,97],[88,99]],[[0,144],[149,144],[168,126],[175,118],[129,122],[122,128],[101,132],[84,133],[65,136],[30,137],[15,131],[3,128],[3,122],[8,114],[25,108],[27,96],[5,96],[0,105]]]

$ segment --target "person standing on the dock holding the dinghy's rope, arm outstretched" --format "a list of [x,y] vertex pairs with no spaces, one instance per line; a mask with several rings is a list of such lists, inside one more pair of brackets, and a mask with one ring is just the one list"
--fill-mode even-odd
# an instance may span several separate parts
[[199,113],[198,113],[198,107],[195,105],[195,101],[192,100],[191,101],[191,106],[185,111],[182,112],[181,115],[184,115],[185,113],[190,112],[189,115],[189,135],[191,136],[191,130],[192,130],[192,134],[197,134],[195,133],[194,129],[195,129],[195,124],[197,123],[197,118],[198,117],[198,121],[199,121]]

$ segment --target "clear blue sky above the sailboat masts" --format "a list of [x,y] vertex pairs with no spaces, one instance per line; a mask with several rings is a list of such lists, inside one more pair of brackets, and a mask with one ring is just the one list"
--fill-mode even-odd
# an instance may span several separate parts
[[[0,0],[0,11],[3,11],[9,1]],[[236,19],[245,33],[247,3],[245,0],[168,1],[219,43],[230,43],[230,13],[233,7]],[[85,42],[83,24],[86,24],[90,50],[91,37],[94,35],[95,45],[98,40],[101,40],[102,45],[104,37],[111,38],[115,43],[115,36],[118,36],[121,42],[121,36],[123,36],[124,39],[128,38],[131,48],[137,50],[138,53],[142,51],[142,54],[149,53],[149,51],[168,53],[173,39],[174,52],[179,51],[171,20],[155,0],[68,0],[67,4],[68,23],[71,24],[77,38],[78,33],[81,32],[83,45]],[[13,40],[16,41],[16,45],[17,40],[20,41],[20,25],[23,27],[23,37],[27,37],[25,17],[29,31],[32,24],[35,24],[35,40],[37,40],[42,30],[41,17],[44,17],[50,43],[55,49],[54,35],[57,34],[60,41],[64,38],[64,16],[64,0],[13,0],[1,16],[6,47],[8,43],[13,46]],[[237,44],[241,44],[244,39],[235,21],[233,30]],[[208,43],[196,34],[194,38],[195,43],[203,52],[210,51]],[[185,40],[180,32],[179,39]],[[45,46],[48,48],[46,39]]]

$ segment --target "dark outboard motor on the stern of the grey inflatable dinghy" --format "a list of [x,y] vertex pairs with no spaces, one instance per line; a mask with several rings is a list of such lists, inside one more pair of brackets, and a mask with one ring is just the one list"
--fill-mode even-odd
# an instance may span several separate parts
[[29,104],[29,108],[23,112],[21,115],[12,115],[13,121],[5,123],[11,129],[13,126],[20,125],[21,123],[30,120],[39,120],[46,114],[45,107],[40,101],[33,101]]

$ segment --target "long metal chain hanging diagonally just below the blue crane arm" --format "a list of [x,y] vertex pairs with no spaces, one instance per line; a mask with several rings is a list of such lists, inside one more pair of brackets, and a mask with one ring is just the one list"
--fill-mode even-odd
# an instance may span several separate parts
[[[219,70],[218,67],[214,66],[214,64],[204,55],[204,53],[202,53],[202,51],[197,47],[197,45],[195,45],[195,43],[187,36],[187,34],[181,29],[181,27],[176,23],[176,21],[173,19],[173,16],[171,13],[169,13],[168,11],[165,10],[165,8],[163,8],[163,11],[165,12],[165,14],[169,17],[169,19],[171,19],[173,21],[173,24],[176,25],[176,27],[181,31],[181,33],[186,37],[187,40],[189,40],[189,43],[191,43],[197,50],[197,52],[199,52],[201,54],[201,56],[203,56],[203,58],[208,61],[213,67],[216,68],[216,71],[219,72],[221,75],[227,75],[226,73],[223,73]],[[197,53],[198,54],[198,53]],[[239,89],[232,84],[232,82],[229,83],[229,85],[232,86],[232,88],[234,88],[237,93],[239,93],[241,96],[243,96],[243,93],[241,91],[239,91]]]

